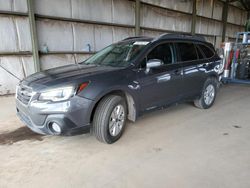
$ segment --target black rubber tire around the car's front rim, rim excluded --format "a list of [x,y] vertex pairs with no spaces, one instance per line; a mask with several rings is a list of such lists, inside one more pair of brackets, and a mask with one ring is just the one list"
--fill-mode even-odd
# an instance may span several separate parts
[[[110,121],[111,113],[115,110],[116,107],[122,106],[124,108],[124,121],[123,126],[120,129],[118,135],[111,135],[110,132]],[[94,118],[93,118],[93,134],[95,137],[104,143],[112,144],[116,142],[124,131],[127,119],[127,105],[124,98],[116,95],[109,95],[103,98],[98,104]]]

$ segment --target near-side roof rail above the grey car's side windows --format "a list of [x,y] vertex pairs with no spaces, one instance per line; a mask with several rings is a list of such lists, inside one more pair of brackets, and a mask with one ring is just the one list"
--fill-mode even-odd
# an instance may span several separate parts
[[192,39],[192,40],[206,42],[206,40],[203,36],[183,34],[183,33],[181,33],[181,34],[162,34],[159,37],[157,37],[155,40],[159,40],[159,39]]

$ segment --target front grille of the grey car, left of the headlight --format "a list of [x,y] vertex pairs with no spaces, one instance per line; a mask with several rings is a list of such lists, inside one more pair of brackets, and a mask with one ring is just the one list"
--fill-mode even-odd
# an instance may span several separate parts
[[32,89],[29,87],[18,86],[16,97],[23,104],[28,105],[31,97],[33,96]]

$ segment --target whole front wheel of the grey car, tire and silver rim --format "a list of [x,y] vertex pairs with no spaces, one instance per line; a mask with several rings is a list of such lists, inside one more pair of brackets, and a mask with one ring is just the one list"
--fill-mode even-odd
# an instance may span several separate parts
[[107,96],[100,101],[95,111],[93,133],[99,141],[112,144],[122,136],[126,119],[125,100],[116,95]]

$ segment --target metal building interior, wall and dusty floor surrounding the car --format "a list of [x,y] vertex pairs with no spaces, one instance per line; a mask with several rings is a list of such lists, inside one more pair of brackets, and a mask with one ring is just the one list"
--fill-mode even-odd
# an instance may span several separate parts
[[14,97],[27,76],[127,37],[197,35],[220,51],[249,13],[248,0],[0,0],[0,187],[250,187],[248,85],[222,84],[205,112],[145,115],[113,145],[26,130]]

